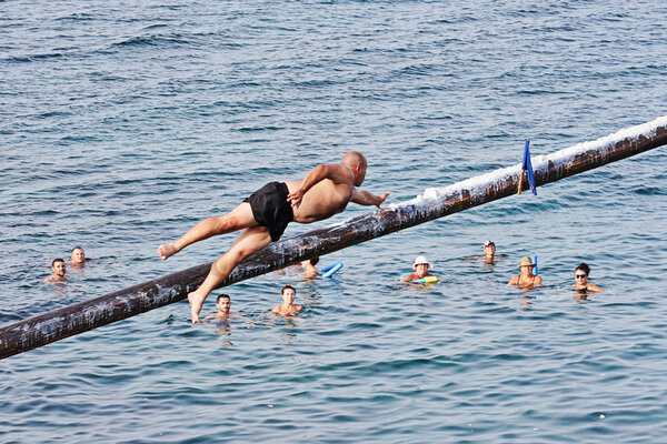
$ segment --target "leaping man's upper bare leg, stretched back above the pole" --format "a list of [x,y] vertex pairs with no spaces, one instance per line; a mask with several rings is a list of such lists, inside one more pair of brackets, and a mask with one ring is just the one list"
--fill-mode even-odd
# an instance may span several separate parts
[[252,209],[248,202],[242,202],[229,213],[208,218],[192,226],[181,239],[175,242],[163,243],[158,248],[158,254],[162,261],[178,253],[191,243],[202,241],[217,234],[231,233],[232,231],[257,225],[252,215]]

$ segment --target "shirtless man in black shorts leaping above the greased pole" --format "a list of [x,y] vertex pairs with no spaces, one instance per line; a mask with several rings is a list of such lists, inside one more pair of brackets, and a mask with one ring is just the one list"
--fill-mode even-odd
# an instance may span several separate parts
[[160,245],[158,253],[166,260],[193,242],[242,230],[227,253],[213,262],[199,289],[188,294],[192,322],[199,322],[199,312],[209,293],[243,259],[280,239],[289,222],[321,221],[340,213],[350,201],[379,208],[389,193],[375,195],[356,189],[364,183],[367,165],[361,153],[349,151],[341,163],[318,165],[302,180],[270,182],[231,212],[205,219],[179,240]]

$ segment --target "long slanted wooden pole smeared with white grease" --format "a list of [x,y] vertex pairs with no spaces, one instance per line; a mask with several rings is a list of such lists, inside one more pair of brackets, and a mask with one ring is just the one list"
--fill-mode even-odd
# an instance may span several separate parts
[[[667,117],[615,134],[532,159],[537,186],[667,143]],[[270,244],[235,269],[226,286],[286,265],[467,210],[518,189],[521,164],[468,179],[400,204]],[[528,184],[524,184],[527,189]],[[69,305],[0,329],[0,359],[183,300],[206,278],[211,263],[169,274],[103,296]]]

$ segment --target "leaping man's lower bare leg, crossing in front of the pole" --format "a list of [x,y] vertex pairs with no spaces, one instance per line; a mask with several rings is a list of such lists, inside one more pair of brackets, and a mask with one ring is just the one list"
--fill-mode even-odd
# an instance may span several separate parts
[[266,226],[251,226],[241,232],[229,251],[213,262],[211,271],[209,271],[199,289],[188,294],[192,323],[200,322],[199,312],[201,312],[203,301],[210,292],[220,285],[243,259],[263,249],[269,243],[271,243],[271,235]]

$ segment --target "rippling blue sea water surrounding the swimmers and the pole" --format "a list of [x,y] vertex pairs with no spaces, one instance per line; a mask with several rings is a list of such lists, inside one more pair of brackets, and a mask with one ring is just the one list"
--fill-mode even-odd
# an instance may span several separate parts
[[[203,263],[156,248],[356,149],[401,202],[667,114],[659,1],[0,2],[0,325]],[[667,433],[664,148],[0,362],[7,443]],[[326,223],[369,211],[350,205]],[[492,239],[505,260],[465,259]],[[96,261],[42,283],[82,245]],[[414,258],[441,283],[400,287]],[[537,254],[544,287],[506,285]],[[570,290],[591,265],[606,289]],[[280,287],[302,314],[275,319]],[[208,301],[205,313],[212,312]]]

